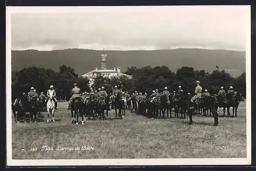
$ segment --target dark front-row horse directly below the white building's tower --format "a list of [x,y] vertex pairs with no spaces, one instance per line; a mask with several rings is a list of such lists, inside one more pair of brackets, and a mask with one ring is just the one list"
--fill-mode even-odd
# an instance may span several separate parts
[[[111,105],[111,95],[107,95],[105,98],[100,99],[99,101],[99,118],[100,119],[108,118],[110,105]],[[106,114],[106,117],[105,117],[105,114]]]

